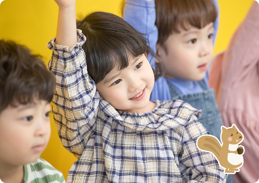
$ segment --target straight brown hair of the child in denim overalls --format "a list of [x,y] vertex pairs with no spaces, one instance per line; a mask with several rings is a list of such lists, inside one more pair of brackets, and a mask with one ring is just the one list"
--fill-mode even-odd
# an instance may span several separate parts
[[163,44],[179,28],[188,30],[188,25],[201,29],[215,22],[217,9],[211,0],[155,0],[158,41]]

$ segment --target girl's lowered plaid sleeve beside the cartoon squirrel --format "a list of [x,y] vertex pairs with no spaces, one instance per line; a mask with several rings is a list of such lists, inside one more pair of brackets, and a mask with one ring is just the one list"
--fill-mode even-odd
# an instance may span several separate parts
[[226,182],[227,176],[216,158],[196,146],[197,138],[204,134],[208,131],[195,116],[183,127],[182,153],[179,155],[183,182]]

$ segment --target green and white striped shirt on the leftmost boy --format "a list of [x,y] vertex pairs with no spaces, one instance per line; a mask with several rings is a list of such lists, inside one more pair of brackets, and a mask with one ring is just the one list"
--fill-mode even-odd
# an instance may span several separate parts
[[24,165],[24,183],[65,183],[62,172],[39,158],[34,163]]

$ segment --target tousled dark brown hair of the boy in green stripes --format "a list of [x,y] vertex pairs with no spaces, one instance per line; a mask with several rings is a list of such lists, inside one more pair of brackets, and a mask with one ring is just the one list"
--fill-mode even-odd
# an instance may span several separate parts
[[0,40],[0,113],[9,105],[51,101],[55,78],[41,56],[13,41]]

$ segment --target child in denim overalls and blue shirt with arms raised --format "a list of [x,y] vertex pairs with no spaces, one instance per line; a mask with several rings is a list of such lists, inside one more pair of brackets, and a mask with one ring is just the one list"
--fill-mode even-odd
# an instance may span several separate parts
[[[126,0],[123,18],[145,34],[165,76],[158,78],[151,101],[181,99],[201,109],[199,122],[220,140],[222,118],[215,91],[208,85],[218,29],[216,0]],[[232,182],[228,177],[228,183]]]

